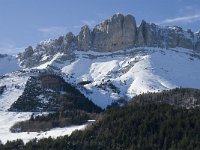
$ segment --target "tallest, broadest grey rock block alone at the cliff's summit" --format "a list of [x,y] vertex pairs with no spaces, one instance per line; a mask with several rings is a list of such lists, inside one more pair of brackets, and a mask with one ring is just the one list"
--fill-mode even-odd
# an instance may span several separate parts
[[133,16],[116,14],[93,29],[93,48],[98,51],[131,48],[136,41],[136,31]]

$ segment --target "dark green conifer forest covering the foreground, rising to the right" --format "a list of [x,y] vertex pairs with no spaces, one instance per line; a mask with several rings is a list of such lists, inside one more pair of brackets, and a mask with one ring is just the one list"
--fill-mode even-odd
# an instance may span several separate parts
[[[175,89],[164,93],[179,95],[179,101],[182,101],[186,93],[196,97],[194,91],[198,90]],[[165,94],[152,94],[157,97],[153,102],[147,98],[145,103],[136,100],[122,107],[110,108],[96,123],[84,131],[73,132],[71,136],[33,140],[25,145],[20,140],[8,142],[1,149],[199,150],[200,108],[188,109],[162,103],[162,95]]]

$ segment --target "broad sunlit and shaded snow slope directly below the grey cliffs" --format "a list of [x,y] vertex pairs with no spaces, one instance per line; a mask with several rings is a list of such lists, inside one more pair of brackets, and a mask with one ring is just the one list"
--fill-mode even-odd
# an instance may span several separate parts
[[[143,92],[200,88],[200,54],[189,49],[75,51],[74,60],[63,61],[65,57],[65,54],[56,54],[51,61],[36,68],[60,71],[68,82],[101,107]],[[88,83],[83,85],[83,81]]]

